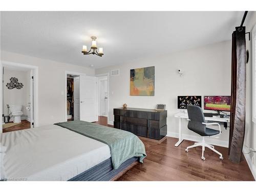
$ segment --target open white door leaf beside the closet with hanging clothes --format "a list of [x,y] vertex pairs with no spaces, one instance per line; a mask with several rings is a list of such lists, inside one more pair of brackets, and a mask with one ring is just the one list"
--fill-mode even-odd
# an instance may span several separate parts
[[80,120],[95,122],[97,116],[96,77],[80,76]]

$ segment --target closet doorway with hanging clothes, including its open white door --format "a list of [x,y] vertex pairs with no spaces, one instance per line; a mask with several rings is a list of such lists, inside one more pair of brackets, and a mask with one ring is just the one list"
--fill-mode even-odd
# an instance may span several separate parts
[[64,95],[66,121],[98,121],[96,88],[97,77],[87,76],[83,73],[65,71]]

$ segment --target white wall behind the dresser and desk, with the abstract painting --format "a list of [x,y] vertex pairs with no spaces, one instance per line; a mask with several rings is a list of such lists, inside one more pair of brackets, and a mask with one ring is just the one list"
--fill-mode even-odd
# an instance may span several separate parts
[[[178,119],[174,118],[178,112],[178,95],[230,95],[231,41],[130,63],[120,61],[120,64],[95,71],[102,74],[120,69],[119,76],[110,76],[110,121],[114,121],[113,108],[123,103],[128,107],[148,109],[164,103],[168,111],[168,135],[178,136]],[[149,66],[155,66],[155,96],[130,96],[130,69]],[[177,74],[178,69],[183,70],[183,77]],[[186,120],[182,121],[182,130],[184,134],[197,136],[187,129]],[[229,129],[223,129],[217,142],[227,146],[228,134]]]

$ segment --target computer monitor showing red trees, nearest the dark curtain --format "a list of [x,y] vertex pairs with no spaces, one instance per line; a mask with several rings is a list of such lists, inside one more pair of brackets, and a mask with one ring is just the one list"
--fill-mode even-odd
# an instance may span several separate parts
[[231,98],[230,96],[204,96],[204,109],[217,111],[230,111]]

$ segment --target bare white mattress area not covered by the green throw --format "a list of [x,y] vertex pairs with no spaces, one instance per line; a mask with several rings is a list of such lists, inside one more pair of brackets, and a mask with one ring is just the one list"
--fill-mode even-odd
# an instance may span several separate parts
[[109,159],[108,145],[57,125],[4,133],[8,179],[67,181]]

